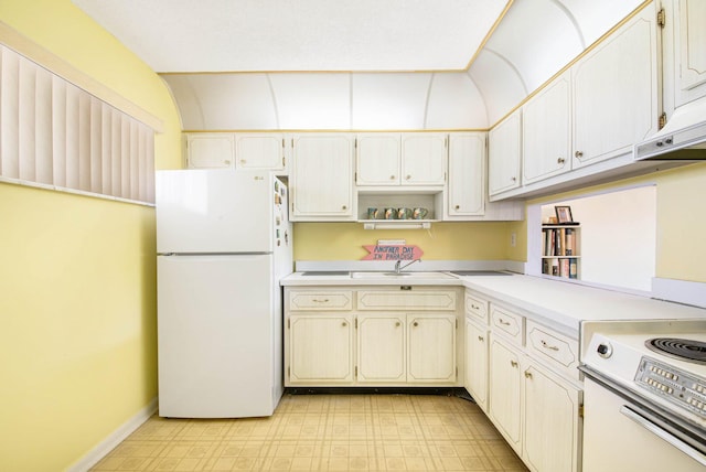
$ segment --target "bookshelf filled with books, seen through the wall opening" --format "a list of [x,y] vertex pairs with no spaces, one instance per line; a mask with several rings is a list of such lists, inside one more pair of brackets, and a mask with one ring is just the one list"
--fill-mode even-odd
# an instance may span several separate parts
[[542,225],[542,273],[580,278],[580,232],[578,224]]

